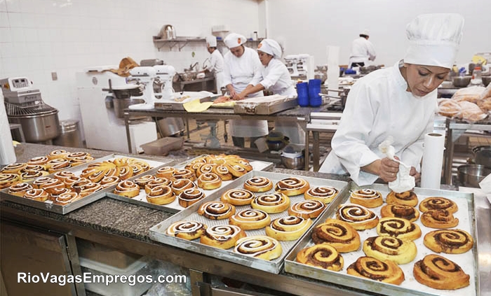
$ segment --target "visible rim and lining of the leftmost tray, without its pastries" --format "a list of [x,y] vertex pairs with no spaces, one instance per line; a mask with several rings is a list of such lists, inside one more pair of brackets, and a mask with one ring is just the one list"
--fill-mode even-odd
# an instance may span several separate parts
[[[111,154],[107,155],[105,157],[97,158],[96,160],[93,160],[91,162],[86,162],[85,164],[80,164],[76,167],[70,167],[66,169],[67,171],[72,171],[76,176],[80,176],[81,172],[83,169],[86,169],[88,167],[88,164],[94,163],[94,162],[103,162],[105,160],[112,160],[115,158],[121,158],[121,157],[130,157],[135,160],[144,160],[147,162],[150,166],[152,167],[162,167],[163,165],[169,164],[170,162],[173,162],[173,160],[166,159],[166,158],[161,158],[161,159],[156,159],[153,157],[135,157],[135,156],[126,156],[126,155],[116,155],[116,154]],[[53,178],[54,174],[49,174],[46,177],[52,177]],[[33,181],[29,181],[27,183],[32,183]],[[18,197],[17,195],[11,195],[8,193],[8,188],[5,188],[0,191],[0,197],[3,200],[8,200],[9,202],[15,202],[16,204],[24,204],[26,206],[32,206],[33,208],[37,209],[43,209],[46,211],[51,211],[53,213],[60,213],[62,215],[65,215],[67,213],[70,213],[71,211],[74,211],[76,209],[80,209],[82,206],[86,206],[86,204],[90,204],[91,202],[95,202],[98,199],[101,199],[102,197],[105,197],[107,192],[114,190],[116,185],[109,186],[108,188],[105,188],[104,190],[100,190],[98,192],[93,193],[92,195],[87,195],[86,197],[83,197],[82,199],[76,200],[75,202],[69,203],[65,206],[60,206],[58,204],[53,204],[51,200],[48,200],[46,202],[38,202],[36,200],[31,200],[31,199],[26,199],[24,197]]]

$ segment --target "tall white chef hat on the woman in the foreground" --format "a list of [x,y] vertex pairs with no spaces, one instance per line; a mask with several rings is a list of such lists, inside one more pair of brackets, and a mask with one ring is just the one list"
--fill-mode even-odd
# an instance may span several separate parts
[[452,69],[462,40],[464,17],[457,13],[419,15],[406,27],[404,62]]

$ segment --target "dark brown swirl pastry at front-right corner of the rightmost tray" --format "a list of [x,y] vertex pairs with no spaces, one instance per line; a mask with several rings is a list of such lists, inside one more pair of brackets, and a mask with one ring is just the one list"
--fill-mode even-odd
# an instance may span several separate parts
[[439,255],[429,254],[415,263],[416,281],[438,290],[457,290],[469,286],[469,274],[459,265]]

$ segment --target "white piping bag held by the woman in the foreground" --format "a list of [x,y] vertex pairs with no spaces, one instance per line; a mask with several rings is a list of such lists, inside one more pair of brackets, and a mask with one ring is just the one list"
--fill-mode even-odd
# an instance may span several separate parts
[[410,176],[411,167],[396,159],[396,149],[392,146],[392,143],[394,143],[394,139],[392,136],[388,136],[387,139],[379,144],[380,152],[384,153],[389,160],[399,163],[396,181],[389,182],[389,188],[396,193],[412,190],[412,188],[415,188],[416,181],[415,177]]

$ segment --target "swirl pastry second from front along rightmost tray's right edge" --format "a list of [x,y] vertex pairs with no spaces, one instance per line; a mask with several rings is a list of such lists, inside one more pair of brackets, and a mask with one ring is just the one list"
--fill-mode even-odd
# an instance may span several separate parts
[[434,230],[428,232],[423,244],[436,253],[462,254],[474,245],[474,239],[464,230]]

